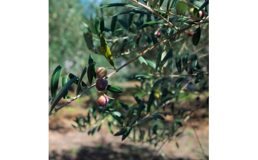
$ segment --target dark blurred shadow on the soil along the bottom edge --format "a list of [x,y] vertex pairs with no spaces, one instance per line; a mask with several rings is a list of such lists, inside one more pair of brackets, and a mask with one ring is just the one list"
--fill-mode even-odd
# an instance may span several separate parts
[[[123,152],[121,152],[123,151]],[[121,144],[119,150],[113,150],[111,144],[106,146],[81,146],[78,151],[63,151],[57,153],[52,151],[49,160],[190,160],[190,159],[171,159],[155,156],[155,151],[148,148],[136,148],[132,145]]]

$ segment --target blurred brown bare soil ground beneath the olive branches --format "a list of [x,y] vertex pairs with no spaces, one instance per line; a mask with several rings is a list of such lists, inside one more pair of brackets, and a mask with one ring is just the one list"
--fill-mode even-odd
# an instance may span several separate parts
[[[71,124],[76,116],[86,116],[84,107],[62,108],[49,116],[50,160],[205,160],[209,151],[208,107],[194,112],[177,143],[167,142],[158,152],[157,146],[121,141],[107,126],[93,136],[75,130]],[[195,127],[195,129],[193,128]],[[203,154],[204,153],[204,154]]]

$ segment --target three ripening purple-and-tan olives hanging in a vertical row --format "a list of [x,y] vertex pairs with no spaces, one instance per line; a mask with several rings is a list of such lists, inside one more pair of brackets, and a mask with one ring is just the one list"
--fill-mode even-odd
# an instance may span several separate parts
[[96,88],[98,91],[101,91],[102,95],[97,100],[97,103],[99,106],[104,107],[108,104],[109,98],[106,96],[103,91],[105,91],[108,87],[108,80],[105,79],[107,75],[107,70],[104,67],[98,67],[96,70],[96,76],[97,76],[97,81],[96,81]]

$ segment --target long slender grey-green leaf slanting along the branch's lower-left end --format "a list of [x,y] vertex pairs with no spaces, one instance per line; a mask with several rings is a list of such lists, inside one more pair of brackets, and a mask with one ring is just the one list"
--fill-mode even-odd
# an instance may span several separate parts
[[57,94],[57,96],[55,97],[55,99],[52,102],[50,111],[49,111],[49,115],[51,115],[52,110],[54,109],[54,107],[58,104],[58,102],[60,101],[60,99],[65,96],[66,92],[68,91],[68,89],[70,88],[70,86],[77,80],[77,77],[74,77],[72,79],[70,79],[64,87],[61,88],[61,90],[59,91],[59,93]]

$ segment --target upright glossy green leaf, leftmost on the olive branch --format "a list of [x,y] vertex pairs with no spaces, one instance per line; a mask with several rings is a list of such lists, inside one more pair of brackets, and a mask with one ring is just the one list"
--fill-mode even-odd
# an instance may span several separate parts
[[52,99],[54,99],[57,95],[57,90],[58,90],[58,83],[59,83],[59,78],[62,72],[62,67],[59,65],[56,67],[54,70],[52,77],[51,77],[51,82],[50,82],[50,90],[51,90],[51,96]]

